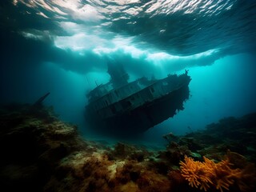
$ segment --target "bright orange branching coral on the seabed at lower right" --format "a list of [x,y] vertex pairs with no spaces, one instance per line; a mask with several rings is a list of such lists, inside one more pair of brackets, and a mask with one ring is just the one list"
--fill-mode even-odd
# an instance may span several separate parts
[[228,160],[215,163],[204,157],[204,162],[194,161],[193,158],[185,156],[184,162],[180,162],[182,176],[186,178],[190,186],[200,190],[208,190],[215,186],[217,190],[229,190],[236,178],[241,178],[240,169],[231,169]]

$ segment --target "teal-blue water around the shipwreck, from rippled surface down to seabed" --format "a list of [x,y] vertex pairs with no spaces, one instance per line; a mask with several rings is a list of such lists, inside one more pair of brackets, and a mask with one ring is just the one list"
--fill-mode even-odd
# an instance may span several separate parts
[[256,111],[256,2],[1,1],[0,102],[47,106],[87,134],[86,93],[106,83],[107,63],[130,81],[189,70],[185,110],[146,132],[186,134]]

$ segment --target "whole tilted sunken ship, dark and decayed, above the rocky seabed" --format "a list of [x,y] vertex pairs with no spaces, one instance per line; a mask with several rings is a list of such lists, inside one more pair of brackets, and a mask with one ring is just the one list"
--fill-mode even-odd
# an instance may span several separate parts
[[190,76],[169,74],[166,78],[138,78],[128,82],[122,65],[108,65],[110,82],[86,94],[85,117],[90,128],[111,135],[142,134],[184,110],[190,96]]

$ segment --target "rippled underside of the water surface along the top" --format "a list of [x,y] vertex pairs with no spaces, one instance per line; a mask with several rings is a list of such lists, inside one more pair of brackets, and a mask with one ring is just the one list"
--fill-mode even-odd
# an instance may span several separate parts
[[13,3],[26,5],[52,22],[69,21],[80,23],[85,29],[97,28],[102,37],[111,32],[118,37],[133,38],[134,45],[141,49],[154,47],[185,56],[213,49],[232,53],[255,48],[255,1],[14,0]]

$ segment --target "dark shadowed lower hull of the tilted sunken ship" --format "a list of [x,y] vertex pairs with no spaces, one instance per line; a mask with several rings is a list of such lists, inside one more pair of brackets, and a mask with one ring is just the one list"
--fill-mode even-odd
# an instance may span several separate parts
[[99,118],[98,114],[86,111],[86,122],[98,133],[130,136],[142,134],[167,118],[172,118],[178,110],[183,110],[183,102],[190,96],[188,81],[177,90],[162,98],[146,102],[133,110],[124,111],[110,118]]

